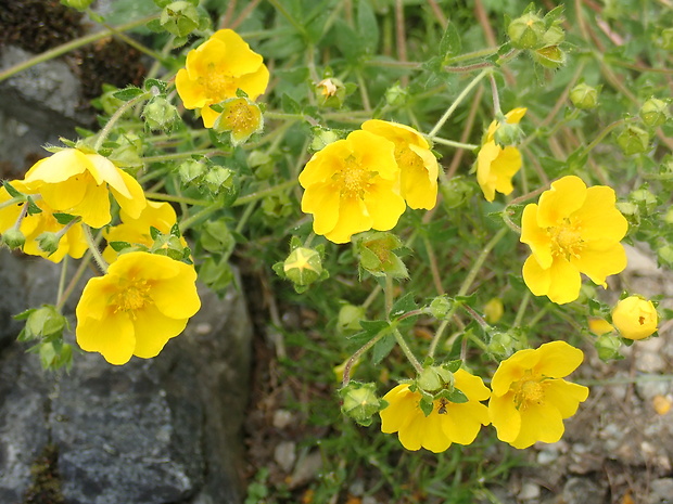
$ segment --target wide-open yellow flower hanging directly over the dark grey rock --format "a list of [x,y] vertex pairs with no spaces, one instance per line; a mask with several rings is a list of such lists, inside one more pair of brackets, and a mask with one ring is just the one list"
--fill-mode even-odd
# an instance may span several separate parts
[[119,256],[91,279],[77,305],[77,343],[111,364],[149,359],[199,311],[194,268],[144,251]]

